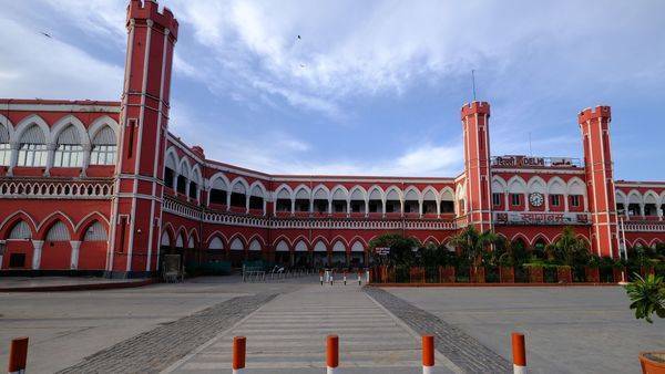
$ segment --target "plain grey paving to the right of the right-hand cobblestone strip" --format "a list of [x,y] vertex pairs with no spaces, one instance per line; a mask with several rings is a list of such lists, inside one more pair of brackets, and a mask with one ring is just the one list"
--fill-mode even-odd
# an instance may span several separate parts
[[635,320],[621,287],[388,290],[507,359],[511,331],[525,333],[532,372],[637,373],[640,351],[665,350],[665,321]]

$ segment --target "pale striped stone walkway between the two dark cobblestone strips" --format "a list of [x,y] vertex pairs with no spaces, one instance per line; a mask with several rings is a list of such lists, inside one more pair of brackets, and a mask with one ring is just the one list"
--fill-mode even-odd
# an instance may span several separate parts
[[[420,337],[357,284],[310,285],[262,307],[165,373],[231,373],[234,335],[247,337],[249,373],[323,373],[326,335],[337,334],[342,373],[421,373]],[[459,372],[437,357],[433,373]]]

